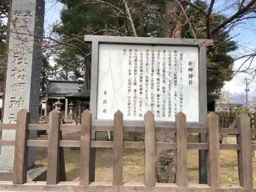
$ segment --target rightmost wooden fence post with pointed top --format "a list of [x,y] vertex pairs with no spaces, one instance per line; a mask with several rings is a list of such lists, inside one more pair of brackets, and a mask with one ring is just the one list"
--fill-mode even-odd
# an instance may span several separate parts
[[238,117],[237,128],[240,134],[237,136],[237,143],[240,144],[238,151],[238,175],[240,185],[246,189],[252,188],[252,149],[250,135],[250,118],[242,113]]

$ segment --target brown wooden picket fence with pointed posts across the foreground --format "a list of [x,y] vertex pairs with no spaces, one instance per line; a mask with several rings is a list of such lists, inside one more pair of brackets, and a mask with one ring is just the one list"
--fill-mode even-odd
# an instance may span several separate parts
[[[210,113],[206,117],[207,127],[187,127],[186,116],[178,113],[176,127],[155,127],[154,114],[144,115],[144,126],[123,126],[123,114],[114,114],[112,126],[91,125],[89,111],[82,113],[81,125],[61,124],[60,112],[50,113],[49,124],[29,124],[29,112],[21,110],[17,114],[17,124],[1,124],[0,129],[16,130],[15,141],[0,141],[1,145],[14,145],[13,181],[1,181],[0,190],[12,191],[99,191],[99,192],[134,192],[134,191],[255,191],[252,183],[252,150],[256,145],[250,142],[250,135],[256,134],[250,129],[250,118],[241,114],[237,119],[236,129],[219,129],[218,116]],[[77,130],[81,133],[80,140],[62,140],[62,130]],[[49,130],[48,140],[29,140],[29,130]],[[113,131],[114,141],[92,141],[91,131]],[[123,142],[123,132],[144,132],[145,142]],[[158,132],[176,134],[176,143],[155,142]],[[219,132],[236,134],[237,144],[219,144]],[[207,143],[187,143],[188,133],[207,134]],[[27,182],[28,146],[48,147],[46,182]],[[63,147],[80,147],[79,182],[66,182],[65,166],[62,153]],[[90,150],[91,147],[113,148],[113,183],[90,182]],[[123,148],[144,148],[144,183],[123,183]],[[177,176],[176,183],[156,183],[155,157],[159,148],[176,150]],[[207,150],[207,185],[188,184],[187,150]],[[220,186],[220,150],[238,151],[238,167],[240,186]]]

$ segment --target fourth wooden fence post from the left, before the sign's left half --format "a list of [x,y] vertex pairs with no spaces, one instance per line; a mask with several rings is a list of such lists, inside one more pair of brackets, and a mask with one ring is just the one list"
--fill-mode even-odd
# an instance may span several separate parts
[[114,114],[113,185],[123,185],[123,113]]

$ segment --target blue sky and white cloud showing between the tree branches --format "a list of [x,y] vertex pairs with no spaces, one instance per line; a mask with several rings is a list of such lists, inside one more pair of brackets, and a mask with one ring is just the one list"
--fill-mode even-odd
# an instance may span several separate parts
[[[54,3],[53,3],[54,2]],[[228,5],[225,5],[225,0],[219,0],[217,1],[214,10],[221,10],[223,7],[227,7]],[[232,1],[231,1],[232,2]],[[46,12],[45,12],[45,30],[49,31],[49,26],[51,26],[56,20],[59,20],[59,13],[62,9],[62,5],[60,3],[55,3],[55,1],[47,0],[46,1]],[[235,10],[227,9],[224,11],[226,15],[231,15]],[[233,53],[230,53],[234,56],[238,56],[241,54],[245,54],[250,52],[253,49],[256,49],[256,41],[252,39],[256,39],[255,32],[250,31],[252,29],[251,26],[255,26],[256,28],[256,21],[253,22],[253,20],[249,20],[247,23],[243,25],[241,28],[237,28],[236,30],[231,31],[231,36],[236,36],[233,38],[233,40],[238,41],[240,48]],[[241,64],[244,62],[244,59],[240,59],[238,61],[234,62],[234,70],[238,70],[238,68],[241,66]],[[249,65],[249,62],[246,62],[244,64],[244,67],[241,69],[246,69],[246,67]],[[252,62],[251,68],[256,69],[256,59]],[[243,83],[243,80],[245,77],[248,77],[249,79],[252,79],[252,77],[248,74],[239,73],[234,78],[225,83],[224,90],[229,91],[231,93],[241,93],[245,90],[245,83]],[[255,80],[249,80],[249,88],[251,92],[255,92],[256,95],[256,89],[254,90],[254,87],[256,88],[256,78]]]

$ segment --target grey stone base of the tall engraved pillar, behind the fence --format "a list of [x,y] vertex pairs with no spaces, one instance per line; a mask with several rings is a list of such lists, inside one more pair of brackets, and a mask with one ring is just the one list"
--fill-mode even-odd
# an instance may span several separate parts
[[[47,166],[37,164],[27,173],[27,181],[46,181]],[[13,172],[0,172],[0,181],[12,181]]]

